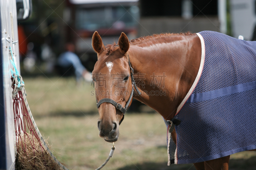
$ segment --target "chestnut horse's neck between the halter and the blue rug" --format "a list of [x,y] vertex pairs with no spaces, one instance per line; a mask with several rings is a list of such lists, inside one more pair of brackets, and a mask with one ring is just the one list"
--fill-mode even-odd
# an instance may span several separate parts
[[201,60],[199,37],[193,34],[131,45],[128,54],[142,92],[134,98],[171,120],[196,78]]

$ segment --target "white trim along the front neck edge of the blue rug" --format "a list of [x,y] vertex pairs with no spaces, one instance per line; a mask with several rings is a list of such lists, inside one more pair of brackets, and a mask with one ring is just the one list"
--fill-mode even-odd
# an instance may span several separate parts
[[202,37],[202,35],[200,33],[196,33],[198,35],[198,37],[201,40],[201,48],[202,48],[202,53],[201,53],[201,62],[200,62],[200,67],[196,76],[196,79],[193,83],[193,85],[191,86],[191,88],[189,89],[187,95],[185,96],[185,98],[182,100],[182,102],[180,103],[177,112],[175,115],[177,115],[180,111],[180,109],[184,106],[184,104],[186,103],[186,101],[188,100],[188,98],[190,97],[190,95],[192,94],[192,92],[194,91],[194,89],[196,88],[196,85],[201,77],[203,68],[204,68],[204,57],[205,57],[205,46],[204,46],[204,38]]

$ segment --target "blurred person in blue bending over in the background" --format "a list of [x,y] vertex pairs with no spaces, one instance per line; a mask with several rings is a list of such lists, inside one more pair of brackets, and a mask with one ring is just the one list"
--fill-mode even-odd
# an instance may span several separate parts
[[60,54],[57,65],[60,67],[59,70],[62,75],[68,72],[73,67],[76,75],[76,81],[80,78],[84,78],[85,81],[91,81],[91,72],[87,71],[81,63],[79,57],[74,53],[75,46],[72,43],[67,43],[66,52]]

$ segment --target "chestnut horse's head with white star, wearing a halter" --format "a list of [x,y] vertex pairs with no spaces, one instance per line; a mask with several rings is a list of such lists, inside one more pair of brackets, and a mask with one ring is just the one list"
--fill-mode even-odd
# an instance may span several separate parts
[[100,114],[98,129],[99,136],[107,142],[117,141],[119,125],[126,109],[131,105],[133,93],[127,54],[129,40],[124,33],[121,34],[118,45],[105,47],[97,31],[92,36],[92,47],[98,55],[92,71]]

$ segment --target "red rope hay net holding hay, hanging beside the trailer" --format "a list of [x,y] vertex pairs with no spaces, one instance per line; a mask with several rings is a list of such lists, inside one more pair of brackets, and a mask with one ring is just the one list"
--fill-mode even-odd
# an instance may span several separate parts
[[[16,169],[68,170],[53,156],[51,146],[41,136],[28,106],[24,84],[18,87],[17,78],[17,75],[12,77]],[[21,76],[19,78],[22,82]]]

